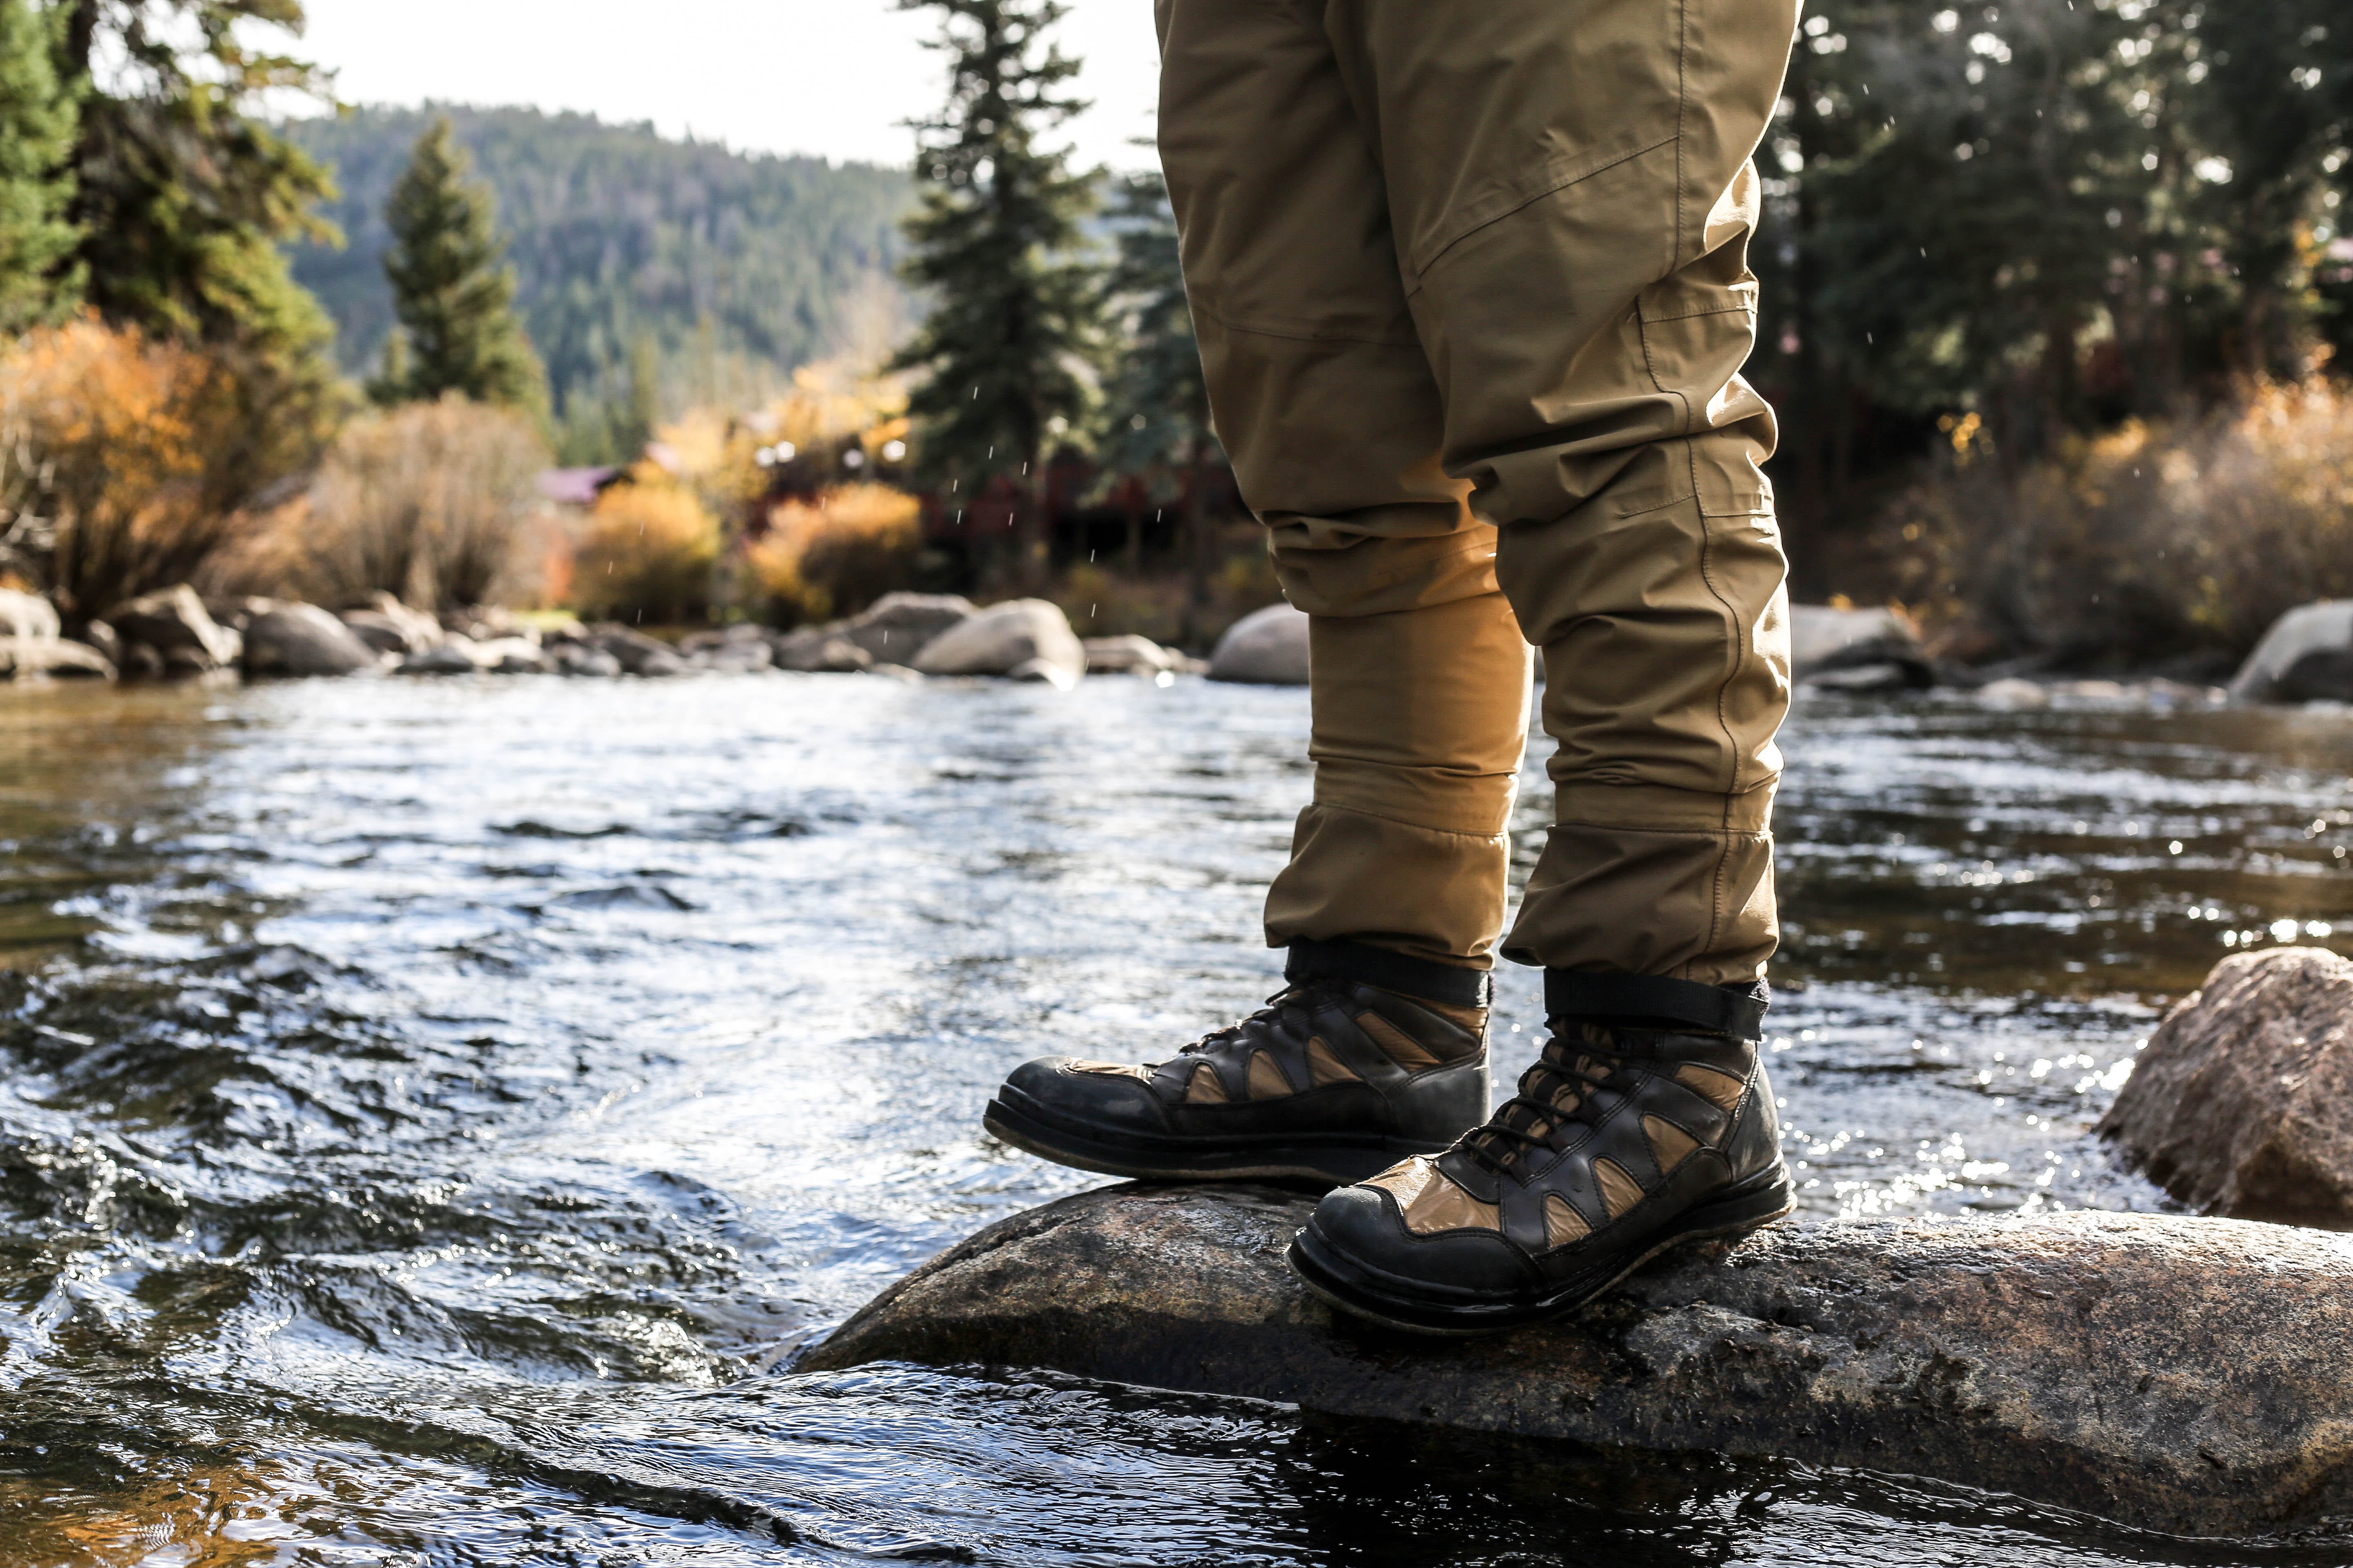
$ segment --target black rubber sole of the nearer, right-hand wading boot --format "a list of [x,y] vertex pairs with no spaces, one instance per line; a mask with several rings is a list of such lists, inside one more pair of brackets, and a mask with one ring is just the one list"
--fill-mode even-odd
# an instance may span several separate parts
[[1369,1319],[1386,1328],[1402,1328],[1405,1333],[1468,1340],[1489,1333],[1508,1333],[1513,1328],[1525,1328],[1527,1324],[1544,1324],[1577,1312],[1593,1298],[1614,1291],[1647,1262],[1673,1253],[1680,1246],[1746,1237],[1772,1225],[1774,1220],[1788,1218],[1795,1206],[1798,1194],[1788,1182],[1788,1171],[1777,1166],[1765,1173],[1765,1178],[1753,1178],[1744,1187],[1685,1208],[1675,1215],[1675,1220],[1654,1232],[1638,1253],[1617,1265],[1617,1269],[1598,1284],[1574,1284],[1537,1300],[1447,1305],[1409,1295],[1395,1288],[1407,1281],[1393,1281],[1388,1274],[1351,1262],[1339,1251],[1327,1246],[1315,1234],[1313,1220],[1299,1232],[1299,1237],[1292,1239],[1287,1258],[1292,1272],[1299,1274],[1299,1281],[1313,1295],[1351,1316]]

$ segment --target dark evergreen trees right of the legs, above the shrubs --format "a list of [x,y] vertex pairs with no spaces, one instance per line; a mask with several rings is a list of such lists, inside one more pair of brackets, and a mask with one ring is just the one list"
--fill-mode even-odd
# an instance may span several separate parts
[[2348,127],[2341,0],[1807,5],[1751,364],[1795,534],[1939,416],[2017,468],[2353,346]]

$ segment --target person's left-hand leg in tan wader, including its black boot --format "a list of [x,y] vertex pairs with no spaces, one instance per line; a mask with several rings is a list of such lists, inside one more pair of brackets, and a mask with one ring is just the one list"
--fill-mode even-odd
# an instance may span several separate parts
[[1313,0],[1160,0],[1160,143],[1217,428],[1313,616],[1315,799],[1268,896],[1289,987],[1155,1067],[1040,1058],[1007,1143],[1118,1175],[1355,1180],[1487,1114],[1529,651],[1442,416],[1372,129]]

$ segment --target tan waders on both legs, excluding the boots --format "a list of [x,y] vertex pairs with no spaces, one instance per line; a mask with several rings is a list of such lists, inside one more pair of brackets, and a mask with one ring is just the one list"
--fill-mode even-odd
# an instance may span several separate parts
[[1313,616],[1273,945],[1487,966],[1527,644],[1555,825],[1504,954],[1774,950],[1784,562],[1739,378],[1798,0],[1158,0],[1219,435]]

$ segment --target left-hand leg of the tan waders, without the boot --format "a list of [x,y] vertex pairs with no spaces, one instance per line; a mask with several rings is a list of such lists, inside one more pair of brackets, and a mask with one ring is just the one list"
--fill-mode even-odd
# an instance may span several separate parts
[[1219,440],[1313,616],[1315,797],[1266,940],[1485,969],[1527,745],[1494,529],[1440,468],[1374,127],[1313,0],[1160,0],[1160,160]]

